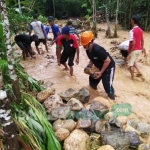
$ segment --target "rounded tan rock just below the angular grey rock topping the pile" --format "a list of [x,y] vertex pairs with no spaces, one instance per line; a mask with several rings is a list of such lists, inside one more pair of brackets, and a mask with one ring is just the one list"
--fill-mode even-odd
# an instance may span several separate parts
[[76,98],[71,98],[67,104],[71,110],[81,110],[83,108],[83,104]]

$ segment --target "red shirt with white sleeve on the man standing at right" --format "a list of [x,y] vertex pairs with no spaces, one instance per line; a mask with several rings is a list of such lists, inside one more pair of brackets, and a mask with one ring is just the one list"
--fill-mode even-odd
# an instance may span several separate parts
[[143,39],[143,31],[140,27],[135,26],[133,29],[130,31],[130,43],[129,43],[129,49],[128,52],[131,50],[132,42],[135,42],[133,50],[142,50],[142,41]]

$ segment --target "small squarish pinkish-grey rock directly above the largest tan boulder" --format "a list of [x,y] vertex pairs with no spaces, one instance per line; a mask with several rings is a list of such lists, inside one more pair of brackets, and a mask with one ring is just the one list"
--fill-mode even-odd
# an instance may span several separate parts
[[90,125],[91,125],[91,120],[79,118],[78,121],[77,121],[76,128],[77,129],[88,128]]

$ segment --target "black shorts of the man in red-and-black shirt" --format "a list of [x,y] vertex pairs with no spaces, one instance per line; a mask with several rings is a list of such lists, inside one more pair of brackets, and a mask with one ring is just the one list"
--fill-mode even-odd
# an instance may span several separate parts
[[69,59],[68,66],[73,66],[75,54],[76,54],[76,51],[73,51],[72,53],[67,53],[66,51],[63,51],[61,54],[60,63],[64,64]]

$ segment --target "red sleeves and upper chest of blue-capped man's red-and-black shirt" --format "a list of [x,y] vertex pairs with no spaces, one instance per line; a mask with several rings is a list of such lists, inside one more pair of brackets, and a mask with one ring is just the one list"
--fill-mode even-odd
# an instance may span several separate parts
[[[72,41],[72,42],[71,42]],[[69,39],[68,41],[63,39],[63,36],[60,35],[57,39],[57,45],[58,46],[64,46],[64,44],[69,44],[70,47],[73,47],[74,49],[77,49],[79,46],[78,46],[78,43],[77,43],[77,39],[76,37],[73,35],[73,34],[69,34]]]

